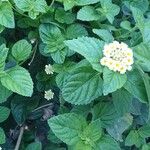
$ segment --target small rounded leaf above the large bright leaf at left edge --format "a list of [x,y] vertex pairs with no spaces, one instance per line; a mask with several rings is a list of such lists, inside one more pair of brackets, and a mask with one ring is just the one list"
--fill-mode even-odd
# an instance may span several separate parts
[[29,44],[26,40],[20,40],[13,45],[12,55],[18,62],[23,61],[30,56],[31,50],[31,44]]

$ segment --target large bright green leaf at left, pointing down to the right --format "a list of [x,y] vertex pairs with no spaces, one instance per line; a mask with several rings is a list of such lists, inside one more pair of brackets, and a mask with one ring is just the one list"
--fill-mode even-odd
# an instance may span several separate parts
[[6,75],[1,78],[1,83],[7,89],[23,96],[31,96],[33,82],[29,72],[19,66],[8,69]]

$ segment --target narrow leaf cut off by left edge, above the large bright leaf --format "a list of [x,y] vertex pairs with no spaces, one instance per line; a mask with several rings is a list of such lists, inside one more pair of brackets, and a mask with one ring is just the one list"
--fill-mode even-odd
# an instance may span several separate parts
[[0,46],[0,72],[4,71],[7,54],[8,54],[8,48],[6,48],[5,44],[2,44]]

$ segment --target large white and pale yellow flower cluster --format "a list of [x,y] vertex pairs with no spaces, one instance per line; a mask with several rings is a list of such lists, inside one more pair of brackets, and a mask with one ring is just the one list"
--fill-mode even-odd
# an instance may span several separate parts
[[101,65],[110,70],[118,71],[120,74],[126,73],[132,69],[133,52],[127,44],[114,41],[106,44],[103,50],[104,57],[100,60]]

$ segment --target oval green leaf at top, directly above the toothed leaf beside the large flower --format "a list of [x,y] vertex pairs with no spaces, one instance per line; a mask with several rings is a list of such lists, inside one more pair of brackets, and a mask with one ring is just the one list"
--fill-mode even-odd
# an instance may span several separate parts
[[84,6],[77,13],[77,19],[82,21],[93,21],[99,20],[100,18],[100,14],[93,6]]

